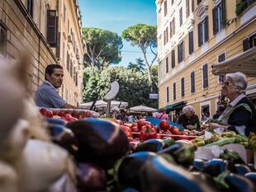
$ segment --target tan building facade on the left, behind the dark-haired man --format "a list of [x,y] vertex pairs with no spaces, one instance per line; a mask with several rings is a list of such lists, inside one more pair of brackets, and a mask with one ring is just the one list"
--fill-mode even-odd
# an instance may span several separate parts
[[[67,1],[67,12],[70,27],[73,29],[73,40],[68,43],[62,35],[63,13],[60,12],[64,1],[41,0],[0,0],[0,56],[17,59],[21,52],[31,55],[31,92],[35,92],[45,80],[45,68],[50,63],[64,66],[64,87],[59,94],[73,105],[82,101],[83,89],[83,41],[81,35],[81,19],[76,1]],[[55,19],[53,19],[55,17]],[[65,44],[66,43],[66,44]],[[64,48],[62,47],[64,46]],[[74,47],[76,49],[74,49]],[[70,50],[69,50],[70,49]],[[60,51],[69,50],[72,55],[72,69],[67,68],[66,54]],[[65,58],[64,58],[64,57]],[[72,74],[72,75],[71,75]]]

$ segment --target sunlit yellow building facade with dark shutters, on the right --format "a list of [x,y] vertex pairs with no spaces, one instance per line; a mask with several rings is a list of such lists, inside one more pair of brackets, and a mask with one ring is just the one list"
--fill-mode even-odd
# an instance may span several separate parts
[[[245,6],[236,8],[239,3]],[[214,115],[224,76],[213,75],[211,67],[256,45],[256,2],[157,0],[156,4],[159,108],[177,112],[186,104],[193,105],[200,118],[206,111]],[[254,102],[255,77],[249,77],[247,91]]]

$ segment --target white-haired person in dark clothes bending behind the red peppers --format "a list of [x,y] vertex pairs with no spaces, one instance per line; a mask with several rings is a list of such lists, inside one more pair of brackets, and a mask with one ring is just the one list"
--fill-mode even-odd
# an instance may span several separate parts
[[192,105],[183,107],[183,115],[178,118],[178,124],[182,124],[185,129],[198,129],[200,127],[198,116],[195,115],[195,109]]

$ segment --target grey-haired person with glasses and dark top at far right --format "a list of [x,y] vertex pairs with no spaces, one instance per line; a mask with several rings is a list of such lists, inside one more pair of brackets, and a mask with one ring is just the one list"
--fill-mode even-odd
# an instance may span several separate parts
[[222,115],[211,123],[210,129],[222,128],[249,135],[256,132],[256,110],[254,104],[245,96],[247,80],[244,73],[229,73],[222,83],[221,92],[230,103]]

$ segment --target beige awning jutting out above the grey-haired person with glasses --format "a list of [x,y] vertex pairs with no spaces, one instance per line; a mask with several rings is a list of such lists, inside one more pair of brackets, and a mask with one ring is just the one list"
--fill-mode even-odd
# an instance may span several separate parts
[[256,47],[212,66],[214,75],[236,72],[244,73],[248,77],[256,77]]

